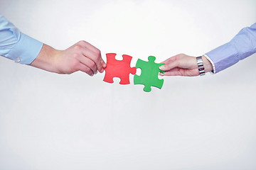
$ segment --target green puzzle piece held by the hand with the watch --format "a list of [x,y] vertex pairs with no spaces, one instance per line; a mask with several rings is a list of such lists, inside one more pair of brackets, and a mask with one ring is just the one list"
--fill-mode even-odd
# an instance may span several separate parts
[[149,56],[149,62],[145,62],[143,60],[138,59],[136,63],[136,67],[139,69],[142,69],[142,74],[138,76],[137,74],[134,75],[134,84],[144,84],[144,91],[149,92],[151,91],[151,86],[155,86],[159,89],[164,84],[164,79],[159,79],[158,75],[161,69],[159,67],[161,65],[164,65],[164,63],[158,64],[154,61],[156,60],[156,57]]

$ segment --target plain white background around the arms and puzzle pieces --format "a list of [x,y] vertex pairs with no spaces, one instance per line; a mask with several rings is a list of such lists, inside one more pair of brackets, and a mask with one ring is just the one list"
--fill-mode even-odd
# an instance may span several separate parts
[[[255,0],[1,0],[23,33],[59,50],[199,56],[256,21]],[[256,169],[256,55],[161,90],[59,75],[0,58],[0,169]],[[130,77],[133,81],[133,76]]]

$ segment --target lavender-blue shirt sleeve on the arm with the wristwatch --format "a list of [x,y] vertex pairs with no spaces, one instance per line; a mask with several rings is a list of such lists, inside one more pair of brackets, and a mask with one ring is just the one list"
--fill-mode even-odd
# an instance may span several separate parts
[[213,73],[218,73],[256,52],[256,23],[240,30],[230,42],[206,53],[213,64]]

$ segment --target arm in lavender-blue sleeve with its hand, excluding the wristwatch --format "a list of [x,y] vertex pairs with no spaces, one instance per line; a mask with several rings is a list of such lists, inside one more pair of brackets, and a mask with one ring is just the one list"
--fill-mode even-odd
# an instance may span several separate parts
[[[256,52],[256,23],[240,30],[238,35],[225,45],[211,50],[203,55],[206,72],[217,73],[226,69],[239,60]],[[166,65],[160,67],[166,71],[166,76],[198,76],[196,57],[176,55],[164,61]]]

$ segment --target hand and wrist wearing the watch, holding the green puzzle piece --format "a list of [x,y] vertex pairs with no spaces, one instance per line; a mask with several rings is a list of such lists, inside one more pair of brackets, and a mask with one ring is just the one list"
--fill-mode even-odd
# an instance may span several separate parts
[[[213,66],[210,61],[204,55],[202,58],[205,72],[213,71]],[[165,71],[164,73],[160,73],[161,76],[194,77],[199,75],[196,57],[179,54],[161,63],[165,63],[165,65],[160,67],[162,71]]]

